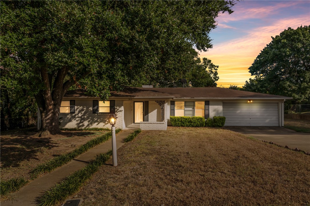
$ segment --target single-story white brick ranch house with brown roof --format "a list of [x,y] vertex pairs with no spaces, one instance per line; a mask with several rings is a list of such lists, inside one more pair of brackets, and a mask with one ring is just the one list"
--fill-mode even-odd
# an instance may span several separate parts
[[284,126],[284,101],[292,99],[227,88],[142,88],[111,92],[108,101],[90,97],[85,90],[68,91],[60,107],[60,127],[115,127],[166,130],[170,116],[226,117],[225,126]]

